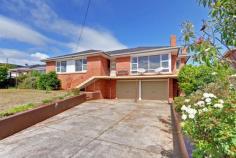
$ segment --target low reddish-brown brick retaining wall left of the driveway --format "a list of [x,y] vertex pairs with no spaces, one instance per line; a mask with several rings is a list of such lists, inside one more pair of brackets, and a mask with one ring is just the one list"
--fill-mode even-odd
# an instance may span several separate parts
[[[92,94],[96,97],[97,94]],[[86,101],[81,94],[0,119],[0,140]]]

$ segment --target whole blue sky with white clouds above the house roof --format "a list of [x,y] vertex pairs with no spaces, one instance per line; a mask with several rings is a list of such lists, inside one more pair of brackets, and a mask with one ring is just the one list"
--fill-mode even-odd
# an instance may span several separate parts
[[207,9],[196,0],[1,0],[0,62],[37,64],[40,59],[86,49],[166,46],[181,23],[200,29]]

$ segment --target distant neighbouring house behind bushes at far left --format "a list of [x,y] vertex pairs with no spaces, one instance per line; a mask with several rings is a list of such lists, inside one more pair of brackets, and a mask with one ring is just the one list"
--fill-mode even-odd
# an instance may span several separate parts
[[30,66],[21,66],[9,70],[9,76],[15,78],[20,75],[28,74],[31,71],[38,71],[40,73],[46,72],[46,65],[30,65]]

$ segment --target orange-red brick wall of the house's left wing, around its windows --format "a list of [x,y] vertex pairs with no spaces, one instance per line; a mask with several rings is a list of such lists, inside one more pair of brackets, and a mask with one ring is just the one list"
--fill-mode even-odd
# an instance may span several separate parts
[[[56,62],[47,62],[46,71],[55,71],[55,67]],[[58,78],[61,80],[61,88],[72,89],[90,77],[108,75],[108,60],[102,56],[88,57],[87,69],[86,73],[58,74]]]

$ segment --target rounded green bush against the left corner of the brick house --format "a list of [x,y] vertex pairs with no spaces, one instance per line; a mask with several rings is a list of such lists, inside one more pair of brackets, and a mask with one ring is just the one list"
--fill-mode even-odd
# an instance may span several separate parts
[[55,72],[49,72],[40,75],[37,86],[42,90],[56,90],[60,87],[60,80]]

